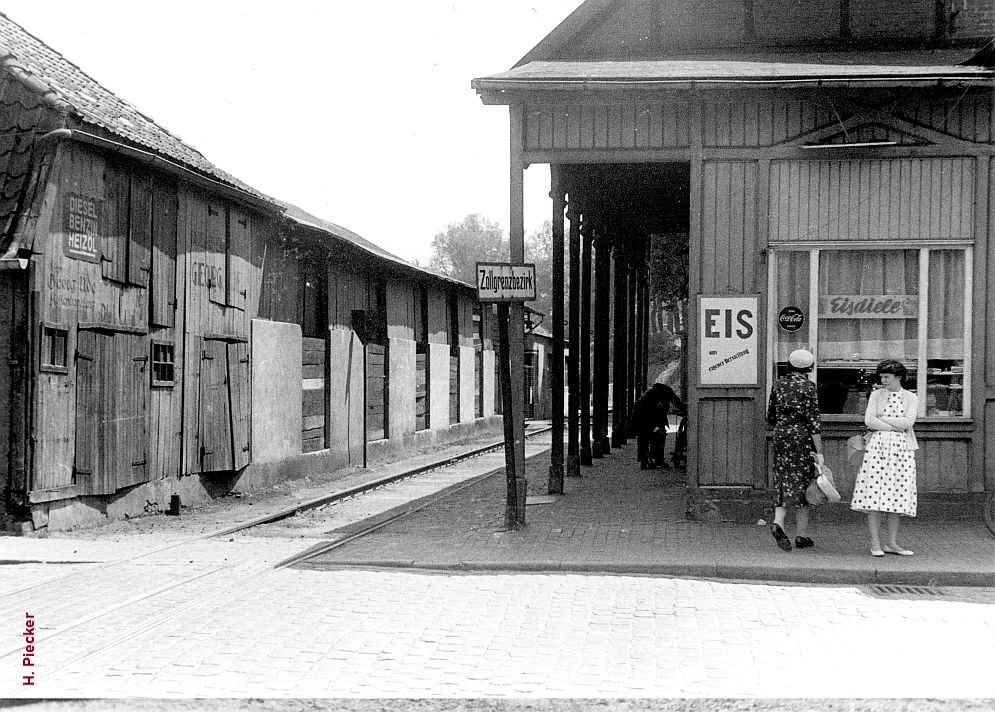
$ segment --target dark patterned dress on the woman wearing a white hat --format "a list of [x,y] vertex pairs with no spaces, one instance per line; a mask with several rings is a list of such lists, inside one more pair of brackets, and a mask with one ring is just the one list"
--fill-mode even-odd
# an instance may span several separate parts
[[807,507],[805,489],[814,477],[819,399],[804,373],[789,373],[770,391],[767,422],[774,426],[774,506]]

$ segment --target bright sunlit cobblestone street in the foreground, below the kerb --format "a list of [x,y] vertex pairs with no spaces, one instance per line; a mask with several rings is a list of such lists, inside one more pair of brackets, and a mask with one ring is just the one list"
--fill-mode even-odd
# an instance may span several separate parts
[[24,607],[35,685],[8,655],[4,696],[995,695],[990,589],[234,565],[159,617],[135,604],[47,638],[67,612]]

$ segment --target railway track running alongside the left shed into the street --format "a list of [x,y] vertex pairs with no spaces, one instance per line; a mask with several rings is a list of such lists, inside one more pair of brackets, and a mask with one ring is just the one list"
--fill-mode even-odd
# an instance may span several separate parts
[[[534,438],[548,430],[548,428],[535,429],[528,432],[526,438]],[[248,557],[243,555],[241,562],[201,560],[195,563],[195,559],[199,558],[197,550],[204,546],[205,541],[230,537],[236,533],[244,534],[254,528],[280,522],[308,510],[328,507],[371,490],[452,467],[501,447],[503,442],[474,448],[445,460],[434,461],[356,487],[297,503],[235,526],[200,533],[132,556],[94,565],[83,564],[86,566],[85,570],[74,571],[0,594],[0,619],[17,620],[18,617],[23,617],[25,607],[38,611],[39,639],[44,640],[47,646],[47,661],[54,663],[47,672],[47,678],[59,677],[65,671],[94,656],[124,645],[129,640],[184,616],[194,615],[200,606],[208,605],[212,601],[225,600],[234,593],[244,590],[244,587],[250,583],[258,586],[263,579],[282,569],[344,546],[424,509],[455,491],[470,487],[481,479],[493,475],[495,470],[489,469],[486,473],[472,475],[433,495],[419,498],[414,506],[397,508],[393,514],[390,513],[393,510],[390,510],[386,516],[372,518],[369,524],[364,521],[355,528],[350,527],[352,531],[342,538],[302,552],[294,552],[290,556],[286,554],[299,547],[299,539],[288,538],[271,545],[275,546],[276,550],[269,549],[269,555],[264,555],[263,561],[259,561],[258,557],[253,560],[251,555]],[[155,576],[160,568],[160,560],[164,556],[172,560],[171,572],[174,575],[158,581],[155,580]],[[197,569],[194,573],[185,571],[185,566],[180,568],[177,565],[177,562],[186,559],[187,556],[191,557],[190,563]],[[168,569],[169,566],[164,568]],[[177,571],[181,573],[176,574]],[[101,594],[101,587],[106,586],[108,582],[121,580],[132,582],[133,589],[128,589],[124,593],[111,589],[106,594]],[[86,600],[74,601],[74,594],[77,591],[84,599],[89,598],[91,601],[96,599],[96,605],[92,603],[88,605]],[[79,610],[81,608],[84,610]],[[120,625],[115,625],[110,631],[106,631],[104,629],[107,628],[106,622],[109,620],[118,620]],[[0,661],[2,661],[0,664],[12,661],[16,663],[14,658],[23,653],[22,641],[18,640],[16,645],[11,644],[13,641],[10,638],[7,638],[7,641],[3,649],[0,649]],[[58,653],[55,648],[58,648]],[[0,685],[0,688],[2,687],[3,685]],[[20,695],[25,690],[15,688],[10,692]],[[28,691],[27,694],[31,692]]]

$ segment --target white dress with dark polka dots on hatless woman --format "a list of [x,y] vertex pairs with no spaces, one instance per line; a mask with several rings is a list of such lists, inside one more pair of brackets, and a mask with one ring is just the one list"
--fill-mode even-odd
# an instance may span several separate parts
[[[905,415],[901,392],[888,394],[881,415]],[[916,458],[906,440],[906,434],[897,430],[874,431],[857,473],[850,509],[916,515]]]

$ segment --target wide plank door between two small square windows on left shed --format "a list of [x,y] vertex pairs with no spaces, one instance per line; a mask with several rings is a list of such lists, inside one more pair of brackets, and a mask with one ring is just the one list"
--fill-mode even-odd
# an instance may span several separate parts
[[148,389],[143,337],[79,331],[73,476],[82,494],[148,481]]

